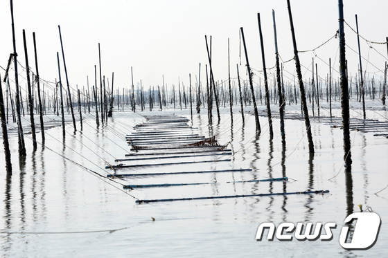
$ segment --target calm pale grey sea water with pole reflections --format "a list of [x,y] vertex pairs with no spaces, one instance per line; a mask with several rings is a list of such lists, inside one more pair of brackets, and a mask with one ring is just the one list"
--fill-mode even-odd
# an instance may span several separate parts
[[[387,118],[386,111],[373,111]],[[190,118],[190,111],[164,113]],[[262,132],[255,131],[254,117],[241,122],[236,108],[233,125],[228,109],[221,109],[221,122],[208,126],[206,109],[193,115],[193,127],[203,136],[218,134],[221,144],[230,142],[232,156],[202,157],[200,160],[231,158],[231,162],[170,165],[121,169],[118,173],[188,172],[213,169],[252,168],[251,172],[142,176],[118,180],[124,184],[206,183],[158,187],[122,192],[121,185],[103,181],[105,161],[125,158],[130,147],[124,136],[144,121],[139,116],[157,112],[116,112],[107,126],[96,130],[91,116],[83,131],[46,131],[46,147],[17,156],[17,138],[10,138],[13,174],[4,171],[3,148],[0,167],[1,257],[383,257],[388,251],[388,139],[373,133],[351,132],[353,173],[343,172],[342,130],[312,123],[315,154],[308,154],[303,121],[285,120],[286,146],[281,145],[279,120],[274,120],[271,138],[267,118],[261,117]],[[160,113],[159,113],[160,114]],[[215,110],[213,110],[215,115]],[[191,125],[191,122],[188,122]],[[79,122],[78,122],[79,126]],[[73,131],[67,125],[67,131]],[[40,136],[38,138],[40,142]],[[66,158],[64,158],[66,157]],[[170,162],[190,159],[179,158]],[[167,162],[158,160],[157,163]],[[128,163],[128,162],[123,162]],[[227,183],[288,176],[287,183]],[[333,178],[335,176],[335,178]],[[329,180],[329,178],[333,178]],[[112,185],[109,185],[111,183]],[[262,196],[238,199],[208,199],[136,204],[137,199],[165,199],[236,194],[262,194],[330,190],[330,194]],[[132,196],[129,196],[131,194]],[[339,237],[348,214],[370,206],[380,215],[378,241],[369,250],[345,250]],[[155,218],[155,221],[152,220]],[[256,241],[258,225],[271,221],[312,223],[335,222],[331,241]],[[266,235],[265,235],[266,237]]]

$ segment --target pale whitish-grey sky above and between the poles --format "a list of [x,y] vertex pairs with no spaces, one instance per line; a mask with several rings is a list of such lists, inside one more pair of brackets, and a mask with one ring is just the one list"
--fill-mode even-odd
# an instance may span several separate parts
[[[299,50],[310,50],[326,42],[338,29],[338,2],[291,0],[294,27]],[[226,80],[228,74],[227,39],[230,38],[231,77],[236,77],[239,63],[239,28],[243,27],[249,54],[249,63],[261,70],[260,41],[258,37],[257,13],[261,13],[261,24],[265,41],[267,68],[274,66],[274,33],[272,9],[276,12],[276,26],[279,53],[283,60],[293,57],[290,21],[287,1],[239,0],[15,0],[15,30],[19,62],[24,62],[22,29],[26,29],[30,66],[35,71],[33,58],[33,37],[37,36],[39,73],[45,80],[58,78],[56,52],[60,52],[58,25],[61,26],[64,53],[66,56],[69,83],[71,86],[94,84],[94,65],[98,65],[98,43],[101,45],[103,75],[112,77],[115,86],[130,86],[130,67],[134,70],[134,84],[142,80],[143,85],[166,84],[188,85],[188,73],[198,74],[202,64],[204,79],[205,64],[208,64],[204,35],[213,36],[213,73],[215,80]],[[346,21],[355,28],[355,14],[358,14],[360,35],[375,42],[385,42],[388,27],[385,26],[388,1],[344,0]],[[0,9],[1,49],[0,65],[5,68],[12,53],[12,32],[10,2],[2,0]],[[357,37],[345,26],[346,43],[357,50]],[[361,39],[362,55],[378,68],[384,68],[387,46],[372,45]],[[338,69],[338,41],[332,39],[315,53],[301,53],[301,62],[310,66],[317,55],[319,75],[326,76],[328,66],[319,58]],[[381,53],[376,52],[376,50]],[[246,76],[245,57],[242,53],[240,75]],[[346,49],[349,59],[349,73],[357,72],[358,55]],[[63,64],[62,80],[64,81]],[[369,72],[378,71],[363,60],[363,68]],[[273,72],[274,70],[272,70]],[[306,71],[306,69],[304,69]],[[303,72],[304,72],[303,71]],[[294,73],[294,62],[285,64],[285,76]],[[258,73],[256,73],[258,75]],[[1,71],[3,76],[3,71]],[[307,74],[310,76],[310,74]],[[378,73],[381,76],[382,73]],[[337,73],[333,73],[338,77]],[[10,76],[13,79],[14,75]],[[285,78],[287,80],[287,78]],[[204,82],[204,80],[202,80]],[[258,82],[258,77],[255,77]],[[26,84],[21,80],[21,85]]]

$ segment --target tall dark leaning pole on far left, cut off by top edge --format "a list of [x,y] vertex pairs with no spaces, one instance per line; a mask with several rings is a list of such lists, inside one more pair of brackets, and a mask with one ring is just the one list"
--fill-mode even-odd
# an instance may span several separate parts
[[15,66],[15,86],[16,86],[16,113],[17,113],[17,142],[19,156],[26,156],[26,145],[24,144],[23,127],[21,126],[21,113],[20,113],[20,96],[19,96],[19,73],[17,73],[17,53],[16,53],[16,40],[15,40],[15,26],[13,22],[13,3],[10,0],[11,6],[11,20],[12,20],[12,43],[13,43],[13,61]]

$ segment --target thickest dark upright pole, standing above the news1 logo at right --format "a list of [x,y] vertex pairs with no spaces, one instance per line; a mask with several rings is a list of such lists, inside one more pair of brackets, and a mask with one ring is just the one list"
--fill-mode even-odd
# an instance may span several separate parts
[[[344,133],[344,161],[345,172],[351,173],[351,138],[349,129],[349,89],[348,78],[346,77],[345,58],[345,33],[344,33],[344,3],[338,0],[339,25],[340,25],[340,76],[341,76],[341,106],[342,106],[342,127]],[[361,63],[360,63],[361,65]],[[365,113],[364,113],[365,116]],[[365,118],[365,117],[364,117]]]

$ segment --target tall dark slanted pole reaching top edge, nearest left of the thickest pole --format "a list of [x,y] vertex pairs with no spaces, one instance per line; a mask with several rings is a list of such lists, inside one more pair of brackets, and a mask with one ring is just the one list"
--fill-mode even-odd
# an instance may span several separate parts
[[290,0],[287,0],[287,4],[288,4],[288,15],[290,17],[292,42],[293,42],[293,45],[294,45],[295,66],[297,68],[297,74],[298,74],[298,80],[299,80],[299,89],[301,91],[301,106],[302,106],[302,109],[303,109],[304,120],[305,120],[306,130],[307,130],[308,150],[309,150],[310,153],[314,153],[314,142],[312,142],[310,118],[308,117],[308,109],[307,109],[307,103],[306,103],[306,93],[304,91],[304,86],[303,86],[303,77],[302,77],[302,73],[301,73],[301,64],[299,62],[299,55],[298,55],[298,48],[297,48],[297,39],[295,39],[294,24],[293,24],[293,21],[292,21],[292,12],[291,12]]

